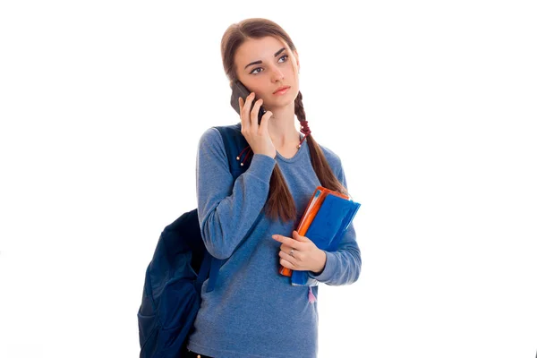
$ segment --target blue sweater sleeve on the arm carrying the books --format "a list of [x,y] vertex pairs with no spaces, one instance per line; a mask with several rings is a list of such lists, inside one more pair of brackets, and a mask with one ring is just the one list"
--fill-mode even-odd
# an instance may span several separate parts
[[[335,171],[337,179],[346,188],[345,173],[339,158],[337,158],[337,169],[338,171]],[[332,286],[350,285],[358,279],[362,268],[362,256],[356,242],[353,223],[345,231],[341,242],[337,246],[337,251],[325,252],[327,254],[325,268],[319,275],[314,275],[310,271],[310,277]]]

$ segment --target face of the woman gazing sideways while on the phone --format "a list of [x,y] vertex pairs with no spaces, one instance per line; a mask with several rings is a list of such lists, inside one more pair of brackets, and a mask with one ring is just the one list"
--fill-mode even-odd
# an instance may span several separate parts
[[[294,103],[300,66],[298,54],[284,41],[270,36],[248,39],[237,49],[234,64],[239,81],[263,98],[263,107],[274,110]],[[289,89],[275,93],[282,86]]]

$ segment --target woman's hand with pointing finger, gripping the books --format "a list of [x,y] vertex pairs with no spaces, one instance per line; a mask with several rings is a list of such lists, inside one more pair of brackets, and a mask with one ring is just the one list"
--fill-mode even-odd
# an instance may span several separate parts
[[272,238],[279,243],[280,264],[284,268],[291,268],[298,271],[311,271],[318,275],[325,267],[327,254],[320,250],[306,236],[299,235],[293,231],[293,238],[284,235],[274,234]]

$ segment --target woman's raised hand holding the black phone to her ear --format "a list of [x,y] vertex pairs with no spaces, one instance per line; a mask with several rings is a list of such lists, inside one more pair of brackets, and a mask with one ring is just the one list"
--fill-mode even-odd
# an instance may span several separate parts
[[239,98],[241,132],[248,144],[250,144],[254,154],[264,154],[270,158],[276,158],[276,148],[274,148],[274,144],[268,134],[268,119],[272,116],[272,112],[267,111],[261,117],[261,124],[258,124],[258,115],[263,104],[263,98],[258,99],[252,107],[253,98],[255,98],[255,93],[253,92],[246,98],[246,102],[243,101],[243,98]]

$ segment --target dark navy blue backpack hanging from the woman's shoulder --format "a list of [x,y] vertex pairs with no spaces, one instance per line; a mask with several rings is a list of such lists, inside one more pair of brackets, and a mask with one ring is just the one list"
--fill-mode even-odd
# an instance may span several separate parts
[[[224,140],[229,170],[235,180],[248,168],[248,164],[241,166],[236,160],[248,142],[241,133],[241,124],[215,128]],[[205,248],[198,209],[184,213],[164,228],[146,270],[138,311],[141,358],[186,355],[188,336],[200,309],[201,285],[209,276],[207,291],[212,291],[223,262]]]

